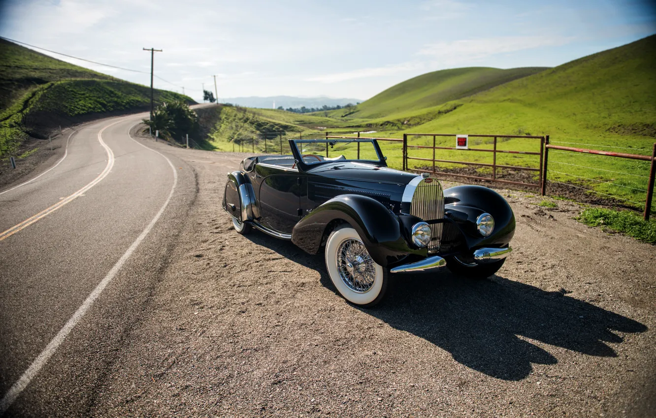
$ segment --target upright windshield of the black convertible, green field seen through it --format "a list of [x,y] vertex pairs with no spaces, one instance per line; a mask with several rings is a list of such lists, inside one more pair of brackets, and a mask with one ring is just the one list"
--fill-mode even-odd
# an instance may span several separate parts
[[337,160],[382,160],[373,140],[295,140],[294,143],[306,164]]

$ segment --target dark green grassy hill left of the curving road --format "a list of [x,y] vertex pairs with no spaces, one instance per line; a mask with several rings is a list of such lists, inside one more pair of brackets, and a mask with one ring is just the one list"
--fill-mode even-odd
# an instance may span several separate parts
[[[155,102],[188,96],[155,90]],[[16,153],[29,136],[44,138],[102,113],[150,108],[150,87],[68,64],[0,39],[0,157]]]

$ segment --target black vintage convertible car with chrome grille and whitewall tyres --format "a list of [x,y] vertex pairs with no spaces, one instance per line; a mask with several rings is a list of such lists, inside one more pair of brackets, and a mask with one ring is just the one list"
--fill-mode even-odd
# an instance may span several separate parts
[[351,303],[379,303],[389,273],[447,267],[485,278],[512,251],[514,214],[487,187],[442,190],[428,174],[388,168],[375,140],[289,145],[292,155],[249,157],[228,174],[223,207],[240,234],[255,227],[310,254],[324,248],[328,274]]

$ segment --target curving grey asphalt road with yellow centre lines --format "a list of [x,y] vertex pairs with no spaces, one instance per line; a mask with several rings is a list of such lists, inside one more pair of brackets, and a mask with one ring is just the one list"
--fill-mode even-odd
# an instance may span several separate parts
[[92,388],[150,295],[195,180],[129,134],[147,116],[81,126],[56,166],[0,191],[0,415],[70,408],[39,405]]

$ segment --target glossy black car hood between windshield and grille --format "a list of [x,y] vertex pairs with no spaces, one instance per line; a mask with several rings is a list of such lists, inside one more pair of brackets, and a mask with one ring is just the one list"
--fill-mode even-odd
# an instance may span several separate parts
[[335,161],[321,164],[316,168],[308,170],[307,174],[310,176],[314,175],[335,179],[337,181],[373,181],[375,183],[390,183],[404,187],[413,178],[417,177],[417,174],[356,161]]

